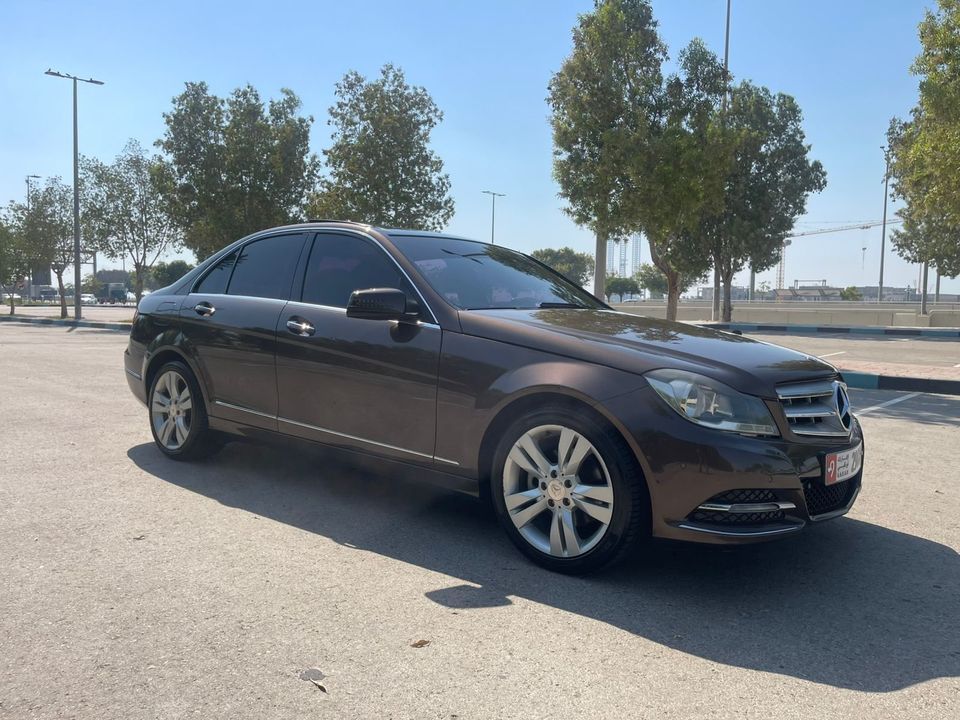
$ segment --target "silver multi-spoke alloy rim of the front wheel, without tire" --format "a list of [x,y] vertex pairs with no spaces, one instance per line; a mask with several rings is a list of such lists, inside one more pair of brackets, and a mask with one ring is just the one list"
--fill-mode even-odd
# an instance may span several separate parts
[[523,538],[553,557],[589,552],[613,517],[603,458],[586,437],[562,425],[540,425],[514,443],[503,466],[503,497]]

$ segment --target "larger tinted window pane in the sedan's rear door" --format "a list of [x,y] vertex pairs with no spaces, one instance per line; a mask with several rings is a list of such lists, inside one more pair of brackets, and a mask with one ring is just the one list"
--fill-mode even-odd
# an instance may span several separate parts
[[302,248],[302,235],[279,235],[246,245],[227,293],[286,300]]

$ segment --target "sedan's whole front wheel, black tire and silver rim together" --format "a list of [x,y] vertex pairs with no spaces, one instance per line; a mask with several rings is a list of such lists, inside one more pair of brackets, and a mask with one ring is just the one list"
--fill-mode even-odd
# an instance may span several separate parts
[[626,442],[599,418],[563,406],[528,412],[507,428],[490,495],[517,548],[556,572],[608,567],[649,533],[646,482]]

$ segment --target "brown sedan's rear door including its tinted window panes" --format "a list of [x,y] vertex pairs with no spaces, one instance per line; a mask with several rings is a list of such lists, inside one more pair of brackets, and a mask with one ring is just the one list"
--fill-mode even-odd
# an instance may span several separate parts
[[304,239],[293,233],[247,243],[217,263],[181,306],[212,416],[276,430],[277,320]]

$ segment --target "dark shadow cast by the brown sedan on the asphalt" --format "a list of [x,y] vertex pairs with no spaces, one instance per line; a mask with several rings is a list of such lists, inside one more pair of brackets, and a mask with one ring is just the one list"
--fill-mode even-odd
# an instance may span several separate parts
[[957,552],[879,525],[840,518],[734,549],[652,544],[566,577],[523,558],[483,503],[392,465],[285,442],[231,443],[195,464],[152,444],[127,454],[226,506],[448,575],[425,592],[445,607],[525,598],[714,662],[867,692],[960,676]]

